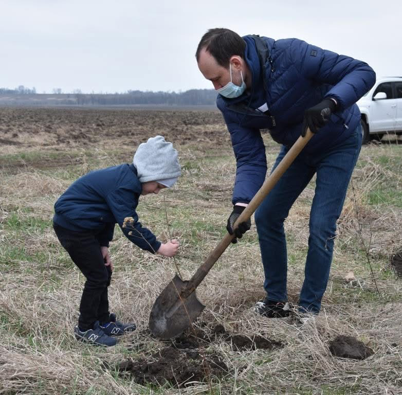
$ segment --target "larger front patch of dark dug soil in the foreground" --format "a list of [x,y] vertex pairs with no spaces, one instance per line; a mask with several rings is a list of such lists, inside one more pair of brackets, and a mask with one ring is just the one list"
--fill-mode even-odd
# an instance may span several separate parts
[[228,367],[217,355],[203,358],[198,351],[164,348],[153,354],[151,361],[131,359],[118,366],[119,371],[127,371],[136,383],[182,388],[196,382],[207,382],[211,376],[222,377]]

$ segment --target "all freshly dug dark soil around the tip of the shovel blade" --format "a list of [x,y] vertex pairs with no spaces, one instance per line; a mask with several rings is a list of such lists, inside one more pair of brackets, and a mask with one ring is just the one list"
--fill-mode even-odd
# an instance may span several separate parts
[[118,365],[118,370],[129,372],[134,381],[141,385],[163,385],[168,382],[180,388],[196,382],[208,382],[212,376],[222,377],[229,373],[219,355],[205,351],[213,342],[222,340],[230,343],[235,351],[283,347],[282,343],[262,336],[233,335],[226,332],[222,325],[217,325],[210,334],[198,329],[182,334],[149,359],[135,361],[129,358]]

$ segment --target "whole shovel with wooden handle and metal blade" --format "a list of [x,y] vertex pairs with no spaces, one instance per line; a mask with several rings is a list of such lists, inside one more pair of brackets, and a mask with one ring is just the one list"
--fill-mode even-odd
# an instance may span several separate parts
[[[234,228],[252,216],[253,212],[312,137],[313,133],[307,129],[305,137],[300,136],[297,139],[276,169],[265,180],[248,206],[243,210],[240,217],[234,223]],[[180,335],[203,312],[205,306],[197,299],[195,289],[224,253],[234,237],[235,235],[227,233],[189,281],[183,281],[176,274],[173,280],[161,292],[152,307],[149,319],[149,327],[155,337],[170,339]]]

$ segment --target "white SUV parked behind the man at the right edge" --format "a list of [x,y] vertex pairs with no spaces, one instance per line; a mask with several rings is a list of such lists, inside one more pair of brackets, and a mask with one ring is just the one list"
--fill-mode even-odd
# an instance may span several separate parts
[[358,102],[363,143],[380,140],[385,133],[402,134],[402,77],[377,79]]

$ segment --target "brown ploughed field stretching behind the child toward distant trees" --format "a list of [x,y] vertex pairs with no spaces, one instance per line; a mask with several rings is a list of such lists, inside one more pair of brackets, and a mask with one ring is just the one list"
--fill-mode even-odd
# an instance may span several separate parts
[[[202,132],[202,133],[201,133]],[[97,147],[102,141],[130,150],[162,134],[177,142],[230,141],[218,111],[138,111],[59,108],[0,108],[0,143],[4,146],[71,148]]]

